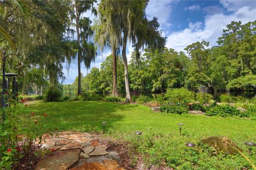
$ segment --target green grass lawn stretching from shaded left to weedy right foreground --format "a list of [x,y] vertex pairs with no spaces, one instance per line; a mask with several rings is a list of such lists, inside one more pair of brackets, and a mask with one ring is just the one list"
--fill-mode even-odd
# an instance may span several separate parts
[[[226,136],[237,143],[243,152],[256,162],[256,147],[245,146],[245,141],[256,142],[256,120],[220,118],[202,115],[171,115],[154,113],[141,105],[123,105],[98,101],[70,101],[36,103],[26,108],[36,114],[47,113],[43,124],[59,131],[102,131],[107,122],[107,135],[130,141],[148,164],[165,164],[177,169],[242,169],[249,163],[241,156],[215,155],[211,148],[201,146],[201,139]],[[177,123],[183,123],[179,137]],[[135,131],[143,135],[137,140]],[[186,148],[195,142],[196,148]],[[133,156],[136,160],[136,156]]]

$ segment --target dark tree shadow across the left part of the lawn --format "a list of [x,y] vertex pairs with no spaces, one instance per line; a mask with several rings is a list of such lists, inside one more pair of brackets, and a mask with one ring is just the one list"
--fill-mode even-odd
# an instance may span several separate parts
[[102,122],[106,121],[106,130],[111,123],[121,121],[124,116],[118,111],[130,111],[138,105],[121,105],[97,101],[70,101],[61,103],[39,103],[27,107],[26,112],[46,113],[43,128],[58,131],[102,131]]

